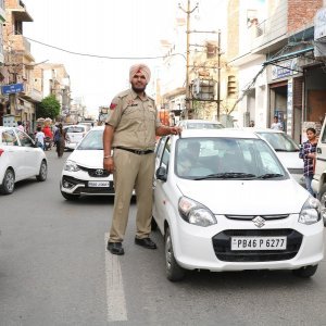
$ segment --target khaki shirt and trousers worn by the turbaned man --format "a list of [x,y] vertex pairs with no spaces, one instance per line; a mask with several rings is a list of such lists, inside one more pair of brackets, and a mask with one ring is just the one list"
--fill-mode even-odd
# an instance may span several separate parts
[[137,196],[136,237],[147,238],[151,231],[154,153],[137,154],[116,147],[154,150],[155,128],[161,126],[154,100],[148,96],[140,99],[131,89],[123,91],[113,99],[106,124],[114,127],[115,198],[110,241],[121,242],[124,238],[134,188]]

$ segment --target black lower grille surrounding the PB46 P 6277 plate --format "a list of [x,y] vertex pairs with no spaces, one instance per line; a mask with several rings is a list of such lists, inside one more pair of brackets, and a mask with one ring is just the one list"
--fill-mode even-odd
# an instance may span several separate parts
[[[287,237],[286,250],[231,251],[231,237]],[[224,230],[212,238],[214,252],[224,262],[271,262],[286,261],[296,256],[302,235],[293,229],[240,229]]]

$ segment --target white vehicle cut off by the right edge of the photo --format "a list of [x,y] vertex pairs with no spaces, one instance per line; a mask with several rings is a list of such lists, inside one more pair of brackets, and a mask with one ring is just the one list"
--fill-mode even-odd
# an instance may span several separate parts
[[317,159],[312,188],[322,203],[322,216],[326,226],[326,118],[317,143]]

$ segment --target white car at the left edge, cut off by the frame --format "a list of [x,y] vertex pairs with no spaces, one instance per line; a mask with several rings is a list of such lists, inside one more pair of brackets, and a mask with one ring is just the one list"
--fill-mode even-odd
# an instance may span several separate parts
[[14,191],[15,183],[36,177],[45,181],[48,162],[45,152],[24,131],[0,127],[0,192]]

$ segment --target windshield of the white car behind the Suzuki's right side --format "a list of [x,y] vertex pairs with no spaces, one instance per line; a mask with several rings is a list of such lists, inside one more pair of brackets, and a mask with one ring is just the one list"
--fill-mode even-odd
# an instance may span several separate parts
[[299,145],[285,133],[258,131],[278,152],[299,152]]

